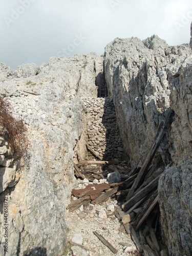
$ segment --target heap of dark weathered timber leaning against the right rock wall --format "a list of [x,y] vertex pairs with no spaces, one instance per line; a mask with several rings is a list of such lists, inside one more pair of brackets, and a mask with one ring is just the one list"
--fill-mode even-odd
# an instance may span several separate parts
[[[131,236],[139,250],[144,255],[168,255],[160,239],[158,180],[164,168],[160,155],[154,159],[159,144],[165,134],[172,111],[168,109],[166,119],[158,126],[156,136],[143,165],[135,166],[124,181],[129,191],[121,209],[116,210],[116,216],[122,221],[126,232]],[[154,163],[152,164],[152,160]],[[171,165],[172,163],[169,163]],[[158,166],[161,168],[158,168]],[[158,234],[158,236],[157,236]]]

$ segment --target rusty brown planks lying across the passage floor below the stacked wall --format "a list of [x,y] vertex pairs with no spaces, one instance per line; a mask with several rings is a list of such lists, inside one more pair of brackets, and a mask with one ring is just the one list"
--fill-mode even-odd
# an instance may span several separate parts
[[[107,166],[107,167],[106,167]],[[76,176],[82,179],[87,179],[88,181],[97,180],[98,183],[100,180],[103,182],[106,181],[106,176],[109,172],[121,172],[121,179],[125,179],[126,175],[126,168],[122,167],[126,166],[125,163],[121,163],[118,161],[89,161],[89,160],[81,160],[78,164],[74,164],[76,170]],[[107,168],[107,171],[105,170]],[[119,183],[95,183],[95,184],[88,184],[86,188],[82,189],[73,189],[72,195],[77,200],[72,201],[68,205],[69,211],[73,211],[79,208],[81,205],[86,205],[88,203],[102,203],[108,200],[111,196],[117,193],[118,190],[121,190],[124,186],[123,182]]]

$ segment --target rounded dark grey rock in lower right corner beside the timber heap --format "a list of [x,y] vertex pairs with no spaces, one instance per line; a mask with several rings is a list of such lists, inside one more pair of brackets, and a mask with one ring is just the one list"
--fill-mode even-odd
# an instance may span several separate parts
[[[191,255],[191,160],[166,168],[159,182],[161,225],[170,255]],[[168,195],[168,197],[167,197]]]

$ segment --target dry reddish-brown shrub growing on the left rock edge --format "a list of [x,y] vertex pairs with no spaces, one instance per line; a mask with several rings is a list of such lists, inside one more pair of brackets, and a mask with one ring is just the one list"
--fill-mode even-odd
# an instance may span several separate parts
[[18,158],[26,158],[29,141],[27,128],[23,120],[16,120],[13,116],[10,103],[0,96],[0,126],[6,130],[12,154],[17,153]]

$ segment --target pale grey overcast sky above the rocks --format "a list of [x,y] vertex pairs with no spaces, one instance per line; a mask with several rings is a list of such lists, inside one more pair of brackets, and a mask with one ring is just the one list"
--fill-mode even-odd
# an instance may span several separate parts
[[191,0],[0,0],[0,62],[12,69],[49,57],[104,53],[114,38],[190,40]]

